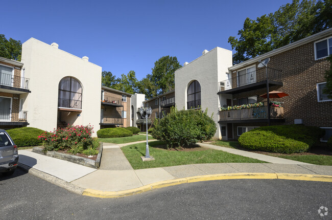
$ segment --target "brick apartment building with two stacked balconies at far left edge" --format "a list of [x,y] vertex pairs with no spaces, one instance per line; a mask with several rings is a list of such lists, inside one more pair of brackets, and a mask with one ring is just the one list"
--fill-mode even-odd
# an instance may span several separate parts
[[29,90],[23,63],[0,57],[0,128],[27,126],[27,111],[22,110]]

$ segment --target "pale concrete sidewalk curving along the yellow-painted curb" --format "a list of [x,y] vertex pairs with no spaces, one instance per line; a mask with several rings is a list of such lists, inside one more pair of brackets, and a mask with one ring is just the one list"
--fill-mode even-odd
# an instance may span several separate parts
[[[126,145],[133,144],[128,143]],[[122,144],[124,145],[124,144]],[[78,193],[116,197],[134,194],[152,188],[215,179],[282,179],[318,180],[332,182],[332,166],[305,164],[274,158],[258,153],[200,144],[203,147],[224,150],[270,163],[214,163],[191,164],[134,170],[119,145],[104,143],[100,169],[19,150],[19,163],[65,181],[64,188]],[[290,177],[290,175],[292,177]],[[324,175],[319,176],[319,175]],[[328,175],[328,177],[326,176]],[[50,179],[46,179],[50,181]],[[52,181],[50,181],[52,182]],[[72,186],[72,187],[70,187]],[[69,187],[69,188],[68,188]]]

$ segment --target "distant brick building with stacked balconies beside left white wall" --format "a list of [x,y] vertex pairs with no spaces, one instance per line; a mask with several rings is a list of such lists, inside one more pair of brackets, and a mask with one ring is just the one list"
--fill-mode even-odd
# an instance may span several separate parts
[[102,86],[100,128],[129,127],[132,94]]

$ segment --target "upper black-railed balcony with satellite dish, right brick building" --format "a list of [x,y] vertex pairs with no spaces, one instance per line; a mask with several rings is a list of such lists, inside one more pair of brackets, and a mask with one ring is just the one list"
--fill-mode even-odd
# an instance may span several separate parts
[[268,76],[266,76],[266,68],[238,75],[236,77],[218,82],[219,94],[236,94],[250,90],[261,89],[266,87],[267,79],[269,86],[283,85],[281,81],[281,71],[267,68]]

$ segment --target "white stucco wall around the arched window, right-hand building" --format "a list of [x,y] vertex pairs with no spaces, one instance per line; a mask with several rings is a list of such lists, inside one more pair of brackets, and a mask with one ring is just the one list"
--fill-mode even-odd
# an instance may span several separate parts
[[[219,121],[220,98],[218,82],[228,78],[228,68],[232,65],[232,52],[215,48],[175,71],[175,103],[178,109],[187,109],[188,85],[197,80],[201,85],[202,110],[208,108],[208,115],[214,113],[217,123],[215,138],[221,139]],[[226,100],[226,99],[225,99]]]

